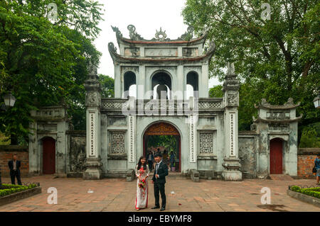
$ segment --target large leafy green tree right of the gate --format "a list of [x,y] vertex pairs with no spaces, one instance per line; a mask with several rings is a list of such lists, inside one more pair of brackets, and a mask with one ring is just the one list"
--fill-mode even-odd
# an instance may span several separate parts
[[[262,4],[271,6],[264,20]],[[208,29],[216,52],[210,77],[223,81],[227,62],[240,77],[239,128],[246,130],[255,114],[254,103],[266,98],[283,104],[301,101],[300,124],[319,121],[312,100],[320,87],[319,1],[309,0],[187,0],[182,15],[196,33]]]

